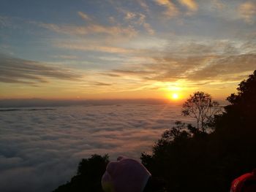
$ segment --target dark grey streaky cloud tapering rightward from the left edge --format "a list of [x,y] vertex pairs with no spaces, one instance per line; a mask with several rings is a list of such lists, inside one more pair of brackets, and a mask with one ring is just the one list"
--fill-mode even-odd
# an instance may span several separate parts
[[34,85],[37,82],[48,82],[49,78],[77,81],[82,77],[70,69],[51,66],[38,61],[13,58],[7,55],[0,55],[0,62],[1,82]]

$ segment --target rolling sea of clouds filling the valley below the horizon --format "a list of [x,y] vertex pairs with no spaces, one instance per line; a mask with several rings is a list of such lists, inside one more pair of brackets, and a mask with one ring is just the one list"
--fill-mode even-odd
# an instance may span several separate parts
[[181,116],[181,106],[121,104],[0,108],[0,191],[52,191],[91,154],[140,158]]

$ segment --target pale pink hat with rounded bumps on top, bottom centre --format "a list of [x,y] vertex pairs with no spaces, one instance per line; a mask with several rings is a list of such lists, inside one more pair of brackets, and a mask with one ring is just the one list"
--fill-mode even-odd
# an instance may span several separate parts
[[105,192],[142,192],[151,174],[133,158],[119,156],[111,161],[102,176]]

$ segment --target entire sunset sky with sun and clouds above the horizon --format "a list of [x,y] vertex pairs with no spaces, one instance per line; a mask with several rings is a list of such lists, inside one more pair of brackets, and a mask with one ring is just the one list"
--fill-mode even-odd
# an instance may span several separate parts
[[225,99],[256,69],[254,0],[0,2],[0,99]]

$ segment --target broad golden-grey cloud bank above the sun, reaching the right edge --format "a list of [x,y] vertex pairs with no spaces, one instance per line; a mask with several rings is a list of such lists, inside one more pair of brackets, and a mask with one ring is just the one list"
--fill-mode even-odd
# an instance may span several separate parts
[[[205,44],[190,42],[180,47],[173,47],[169,51],[152,56],[151,63],[138,64],[136,68],[133,65],[126,66],[103,74],[154,82],[216,80],[225,83],[227,80],[234,80],[234,77],[237,77],[236,80],[241,80],[237,75],[239,72],[245,76],[256,69],[253,42],[242,45],[225,41]],[[146,50],[141,54],[151,55],[147,54]]]

